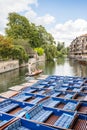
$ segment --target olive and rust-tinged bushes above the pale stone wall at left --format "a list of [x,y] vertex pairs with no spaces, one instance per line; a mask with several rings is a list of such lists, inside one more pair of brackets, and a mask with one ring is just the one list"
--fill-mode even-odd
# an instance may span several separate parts
[[20,64],[28,61],[28,55],[21,45],[14,45],[13,39],[0,36],[0,58],[19,59]]

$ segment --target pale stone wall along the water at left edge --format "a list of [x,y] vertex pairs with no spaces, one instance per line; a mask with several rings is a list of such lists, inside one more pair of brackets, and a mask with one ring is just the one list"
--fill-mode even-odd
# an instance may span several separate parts
[[0,73],[11,71],[11,70],[14,70],[17,68],[19,68],[19,61],[18,60],[1,61],[0,62]]

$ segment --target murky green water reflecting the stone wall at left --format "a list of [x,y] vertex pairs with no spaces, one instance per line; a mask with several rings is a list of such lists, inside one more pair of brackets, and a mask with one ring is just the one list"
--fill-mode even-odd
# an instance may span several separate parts
[[16,69],[0,74],[0,92],[6,91],[8,87],[25,82],[27,68]]

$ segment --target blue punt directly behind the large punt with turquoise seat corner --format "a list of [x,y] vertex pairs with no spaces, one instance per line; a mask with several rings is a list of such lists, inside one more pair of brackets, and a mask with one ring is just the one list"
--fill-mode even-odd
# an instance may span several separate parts
[[79,106],[79,102],[75,100],[67,100],[62,98],[48,98],[45,101],[41,102],[41,105],[45,107],[52,107],[63,109],[65,111],[77,111],[77,107]]

